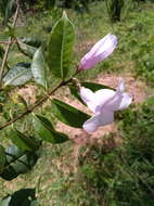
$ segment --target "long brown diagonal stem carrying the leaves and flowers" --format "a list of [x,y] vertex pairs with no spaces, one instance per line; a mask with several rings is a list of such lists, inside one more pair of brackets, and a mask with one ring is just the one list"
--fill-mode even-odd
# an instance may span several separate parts
[[68,79],[67,81],[62,81],[56,88],[54,88],[53,90],[51,90],[50,92],[48,92],[43,98],[41,98],[38,102],[36,102],[33,106],[29,106],[24,113],[22,113],[21,115],[18,115],[17,117],[7,121],[5,124],[3,124],[2,126],[0,126],[0,130],[2,130],[3,128],[12,125],[13,123],[17,121],[18,119],[25,117],[26,115],[33,113],[33,111],[35,111],[37,107],[39,107],[40,105],[42,105],[49,98],[50,95],[52,95],[57,89],[60,89],[63,86],[66,86],[68,82],[72,81],[72,78]]

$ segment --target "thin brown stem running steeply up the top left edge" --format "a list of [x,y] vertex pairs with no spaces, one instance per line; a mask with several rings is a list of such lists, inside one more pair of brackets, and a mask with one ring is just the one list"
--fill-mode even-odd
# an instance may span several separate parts
[[[18,12],[20,12],[20,2],[17,1],[17,8],[16,8],[16,11],[15,11],[12,28],[14,28],[15,25],[16,25],[16,21],[17,21],[17,17],[18,17]],[[5,49],[5,53],[4,53],[1,69],[0,69],[0,87],[1,87],[1,83],[2,83],[2,75],[3,75],[5,62],[8,60],[8,55],[9,55],[9,51],[10,51],[10,48],[12,46],[12,42],[13,42],[13,37],[10,37],[9,40],[8,40],[8,46],[7,46],[7,49]]]

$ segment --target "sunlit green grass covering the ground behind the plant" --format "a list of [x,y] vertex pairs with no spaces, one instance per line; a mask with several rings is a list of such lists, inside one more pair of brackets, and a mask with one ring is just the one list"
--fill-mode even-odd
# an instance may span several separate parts
[[[108,21],[103,2],[91,4],[90,13],[77,14],[72,10],[67,11],[77,33],[75,64],[107,33],[116,34],[119,39],[118,48],[110,59],[100,63],[95,69],[82,73],[79,78],[94,79],[100,72],[131,73],[136,78],[142,79],[151,91],[154,82],[153,9],[153,3],[141,4],[140,8],[133,9],[124,22],[114,25]],[[55,11],[54,15],[57,17],[60,13]],[[48,38],[50,27],[55,21],[50,13],[24,17],[26,26],[23,28],[18,25],[16,29],[20,37],[25,34],[35,36],[38,33],[42,39]],[[7,39],[4,34],[0,33],[1,40]],[[15,53],[12,51],[10,54],[10,65],[27,60],[23,55],[13,59]],[[4,95],[0,98],[3,103],[9,100]],[[8,103],[5,118],[9,118],[8,111],[12,110],[13,105]],[[33,171],[11,182],[1,179],[0,197],[21,188],[36,186],[42,206],[154,205],[153,105],[151,99],[120,113],[117,125],[123,144],[117,147],[93,145],[85,155],[87,146],[82,146],[76,157],[73,142],[62,145],[43,143],[41,156]],[[50,106],[39,112],[52,118]],[[8,145],[10,141],[5,140],[5,136],[4,130],[0,138],[1,142]],[[104,138],[114,140],[114,134]]]

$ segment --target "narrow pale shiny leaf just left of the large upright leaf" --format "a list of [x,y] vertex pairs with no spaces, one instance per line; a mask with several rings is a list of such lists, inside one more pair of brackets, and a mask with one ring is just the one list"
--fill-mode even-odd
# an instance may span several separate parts
[[34,55],[33,63],[31,63],[31,73],[36,82],[43,88],[47,88],[47,80],[46,80],[46,63],[44,57],[42,54],[41,48],[39,48]]

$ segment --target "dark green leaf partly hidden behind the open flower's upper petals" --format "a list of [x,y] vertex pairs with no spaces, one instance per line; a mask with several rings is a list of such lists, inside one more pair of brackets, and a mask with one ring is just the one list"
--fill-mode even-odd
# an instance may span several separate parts
[[[113,89],[111,87],[107,87],[107,86],[104,86],[104,85],[100,85],[100,83],[94,83],[94,82],[81,82],[81,86],[86,87],[88,89],[91,89],[93,92],[95,92],[97,90],[100,90],[100,89]],[[70,93],[75,98],[77,98],[82,104],[85,104],[84,101],[81,100],[79,93],[78,93],[78,89],[75,86],[70,85],[69,86],[69,90],[70,90]]]

